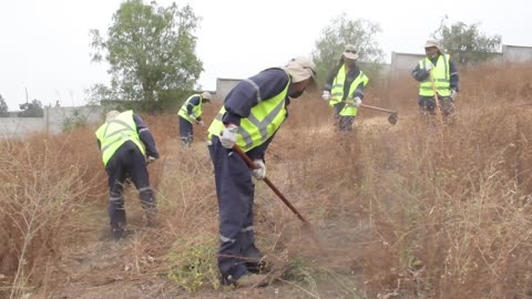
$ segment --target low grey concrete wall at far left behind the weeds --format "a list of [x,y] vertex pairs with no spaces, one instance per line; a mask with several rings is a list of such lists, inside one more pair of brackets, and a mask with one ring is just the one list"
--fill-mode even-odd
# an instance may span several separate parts
[[20,138],[30,133],[59,134],[69,120],[84,120],[90,125],[103,122],[103,111],[94,107],[44,107],[43,117],[0,117],[0,137]]

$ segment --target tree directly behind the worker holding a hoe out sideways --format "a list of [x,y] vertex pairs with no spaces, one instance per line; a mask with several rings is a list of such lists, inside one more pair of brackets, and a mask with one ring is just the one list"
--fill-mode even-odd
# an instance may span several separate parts
[[319,74],[319,81],[325,82],[328,73],[338,64],[345,45],[354,44],[359,53],[359,61],[378,69],[383,61],[383,51],[376,41],[381,31],[378,23],[364,19],[349,20],[346,13],[332,19],[316,42],[313,58]]

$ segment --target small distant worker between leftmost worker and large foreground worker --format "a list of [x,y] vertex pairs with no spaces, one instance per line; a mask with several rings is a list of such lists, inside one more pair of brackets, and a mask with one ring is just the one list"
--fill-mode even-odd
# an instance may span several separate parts
[[194,141],[193,123],[205,126],[202,120],[202,105],[211,103],[212,95],[208,92],[202,94],[193,94],[186,99],[180,112],[177,112],[180,118],[180,135],[183,145],[190,146]]

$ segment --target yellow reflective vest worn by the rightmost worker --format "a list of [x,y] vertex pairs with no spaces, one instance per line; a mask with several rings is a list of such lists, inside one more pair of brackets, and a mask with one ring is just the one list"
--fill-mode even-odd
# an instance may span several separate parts
[[[434,86],[439,95],[450,96],[451,95],[451,84],[450,84],[450,74],[449,74],[449,55],[441,54],[436,62],[434,68],[431,70],[432,76],[434,79]],[[424,70],[424,65],[430,62],[428,58],[419,61],[419,68]],[[431,62],[432,63],[432,62]],[[423,80],[419,84],[419,95],[421,96],[434,96],[434,91],[432,90],[432,83],[430,82],[430,76]]]

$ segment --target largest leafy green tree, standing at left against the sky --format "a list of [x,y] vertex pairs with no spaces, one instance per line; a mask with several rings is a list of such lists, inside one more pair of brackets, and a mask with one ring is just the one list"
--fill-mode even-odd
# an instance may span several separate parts
[[110,64],[112,92],[122,99],[146,101],[153,111],[158,94],[167,90],[192,90],[203,71],[195,55],[200,18],[190,6],[157,7],[127,0],[113,16],[104,40],[91,30],[92,61]]

